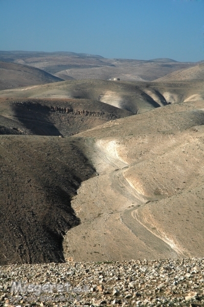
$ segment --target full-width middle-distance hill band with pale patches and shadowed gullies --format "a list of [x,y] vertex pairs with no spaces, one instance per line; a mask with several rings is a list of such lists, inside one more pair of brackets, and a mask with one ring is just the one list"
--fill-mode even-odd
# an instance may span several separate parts
[[124,82],[71,80],[0,91],[0,98],[92,99],[134,114],[172,103],[204,99],[203,81]]

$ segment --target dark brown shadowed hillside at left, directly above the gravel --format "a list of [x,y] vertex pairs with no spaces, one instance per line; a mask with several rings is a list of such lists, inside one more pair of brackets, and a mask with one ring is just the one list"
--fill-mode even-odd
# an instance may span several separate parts
[[64,261],[71,198],[95,173],[77,141],[0,136],[0,264]]

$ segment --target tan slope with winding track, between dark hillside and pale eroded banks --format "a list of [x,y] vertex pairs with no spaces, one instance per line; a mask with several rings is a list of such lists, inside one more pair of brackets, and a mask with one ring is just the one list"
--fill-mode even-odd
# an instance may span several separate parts
[[157,237],[135,218],[135,207],[145,206],[147,200],[126,180],[124,171],[132,166],[120,159],[114,141],[86,138],[85,143],[100,176],[83,182],[72,201],[81,225],[66,234],[65,258],[101,261],[179,257],[168,240]]

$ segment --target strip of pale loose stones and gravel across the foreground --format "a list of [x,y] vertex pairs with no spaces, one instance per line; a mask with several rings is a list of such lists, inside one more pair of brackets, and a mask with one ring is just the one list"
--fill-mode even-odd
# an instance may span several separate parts
[[0,267],[0,306],[204,306],[204,258]]

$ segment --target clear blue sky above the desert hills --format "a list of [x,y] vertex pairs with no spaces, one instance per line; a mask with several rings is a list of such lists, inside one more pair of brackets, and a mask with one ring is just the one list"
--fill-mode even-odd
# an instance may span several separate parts
[[0,50],[204,60],[204,0],[0,0]]

